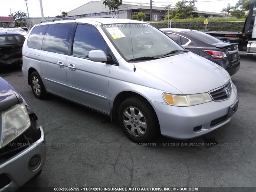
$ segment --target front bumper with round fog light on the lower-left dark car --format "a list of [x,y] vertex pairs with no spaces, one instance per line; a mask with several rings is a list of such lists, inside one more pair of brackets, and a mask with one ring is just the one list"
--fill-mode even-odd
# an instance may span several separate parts
[[[8,177],[10,180],[10,183],[0,188],[0,192],[17,190],[18,187],[25,184],[42,170],[46,161],[46,146],[44,145],[44,131],[41,126],[40,132],[41,137],[36,142],[0,164],[0,176],[2,178]],[[36,169],[31,170],[29,168],[29,162],[35,155],[40,157],[40,164]]]

